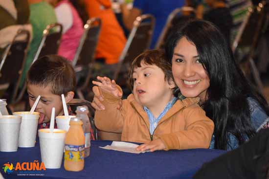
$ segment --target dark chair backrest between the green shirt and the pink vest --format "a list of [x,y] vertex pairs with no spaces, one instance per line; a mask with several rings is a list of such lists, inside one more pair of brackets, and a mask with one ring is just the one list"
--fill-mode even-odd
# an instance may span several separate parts
[[62,38],[63,26],[60,23],[52,23],[43,31],[43,38],[35,54],[34,63],[39,57],[57,54]]

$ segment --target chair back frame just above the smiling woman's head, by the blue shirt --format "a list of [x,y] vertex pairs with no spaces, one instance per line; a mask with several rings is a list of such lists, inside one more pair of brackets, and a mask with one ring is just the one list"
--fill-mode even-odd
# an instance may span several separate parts
[[[184,12],[188,13],[188,15],[183,14]],[[166,20],[166,24],[163,27],[162,32],[160,33],[155,48],[163,48],[165,40],[167,39],[168,34],[171,32],[175,23],[190,18],[192,16],[195,16],[195,9],[192,7],[183,6],[181,8],[173,10]]]

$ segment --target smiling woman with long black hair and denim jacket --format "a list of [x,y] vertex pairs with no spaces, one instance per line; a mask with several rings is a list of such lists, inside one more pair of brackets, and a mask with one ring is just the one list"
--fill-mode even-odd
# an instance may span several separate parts
[[249,84],[215,25],[203,20],[180,24],[165,50],[181,94],[199,96],[214,121],[210,148],[235,149],[266,126],[266,100]]

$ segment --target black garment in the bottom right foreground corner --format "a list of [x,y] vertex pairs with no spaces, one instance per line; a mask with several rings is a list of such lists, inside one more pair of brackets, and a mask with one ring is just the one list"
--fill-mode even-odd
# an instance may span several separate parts
[[193,179],[266,179],[269,168],[269,129],[247,143],[203,164]]

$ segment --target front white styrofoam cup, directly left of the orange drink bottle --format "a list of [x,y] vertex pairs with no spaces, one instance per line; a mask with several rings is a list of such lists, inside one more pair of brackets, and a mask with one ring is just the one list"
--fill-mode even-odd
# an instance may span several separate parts
[[61,129],[54,129],[53,133],[50,133],[49,129],[38,130],[41,159],[45,168],[61,168],[66,134],[67,132]]

